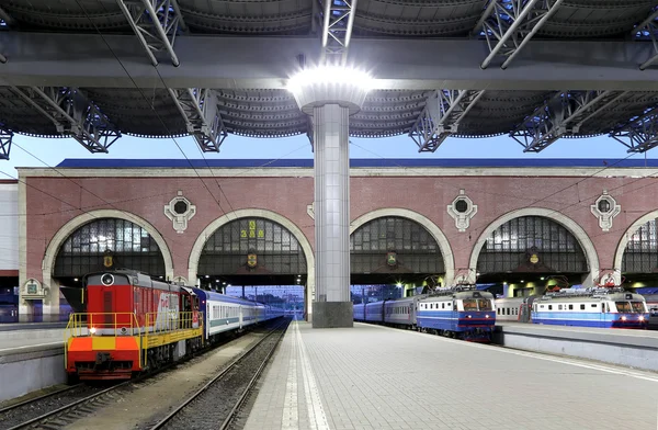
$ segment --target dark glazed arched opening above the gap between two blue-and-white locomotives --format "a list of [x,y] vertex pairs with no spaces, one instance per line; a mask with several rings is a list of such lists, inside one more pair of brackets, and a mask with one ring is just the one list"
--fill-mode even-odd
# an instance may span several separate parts
[[513,297],[581,284],[590,268],[580,242],[563,224],[526,215],[507,220],[486,236],[476,272],[478,284]]

